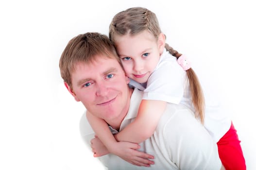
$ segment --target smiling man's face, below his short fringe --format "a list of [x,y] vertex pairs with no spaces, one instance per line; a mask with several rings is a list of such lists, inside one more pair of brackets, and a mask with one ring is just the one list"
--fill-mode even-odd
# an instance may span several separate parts
[[97,56],[93,63],[78,63],[71,77],[69,92],[93,115],[111,121],[127,113],[129,79],[116,59]]

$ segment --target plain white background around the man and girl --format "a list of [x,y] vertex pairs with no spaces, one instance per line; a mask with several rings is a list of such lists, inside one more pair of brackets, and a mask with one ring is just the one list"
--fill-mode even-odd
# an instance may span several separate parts
[[256,6],[253,0],[9,0],[0,2],[0,169],[86,170],[101,165],[85,147],[85,110],[63,85],[58,62],[68,41],[108,33],[112,17],[142,6],[167,42],[213,86],[256,170]]

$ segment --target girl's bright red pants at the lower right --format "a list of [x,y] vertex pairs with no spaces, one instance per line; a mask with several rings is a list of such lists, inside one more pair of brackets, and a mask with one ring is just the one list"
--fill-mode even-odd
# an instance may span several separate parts
[[222,165],[226,170],[246,170],[240,140],[233,123],[227,133],[217,142],[217,145]]

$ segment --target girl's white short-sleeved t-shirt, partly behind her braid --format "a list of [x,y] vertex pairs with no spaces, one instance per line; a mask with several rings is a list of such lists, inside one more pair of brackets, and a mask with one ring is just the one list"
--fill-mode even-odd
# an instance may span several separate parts
[[[181,103],[194,111],[187,73],[178,64],[176,57],[172,56],[166,49],[164,49],[147,84],[141,85],[131,79],[130,85],[144,91],[144,100]],[[207,87],[203,87],[203,89],[207,90]],[[210,99],[210,97],[205,96],[204,126],[214,140],[218,142],[229,130],[231,119],[218,103],[218,99]]]

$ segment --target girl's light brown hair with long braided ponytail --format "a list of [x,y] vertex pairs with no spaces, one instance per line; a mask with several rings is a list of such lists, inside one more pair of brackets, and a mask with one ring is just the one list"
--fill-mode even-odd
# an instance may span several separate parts
[[[144,30],[148,30],[154,35],[156,40],[158,39],[161,29],[155,14],[146,8],[129,8],[113,17],[109,26],[109,38],[115,44],[115,35],[136,35]],[[167,43],[165,43],[165,48],[177,59],[182,55],[178,51],[173,50]],[[203,90],[192,68],[187,70],[187,75],[195,116],[199,117],[201,122],[204,123],[205,99]]]

